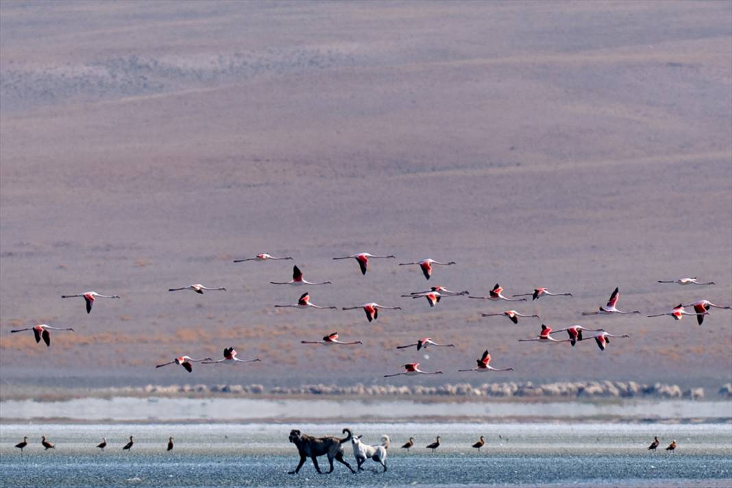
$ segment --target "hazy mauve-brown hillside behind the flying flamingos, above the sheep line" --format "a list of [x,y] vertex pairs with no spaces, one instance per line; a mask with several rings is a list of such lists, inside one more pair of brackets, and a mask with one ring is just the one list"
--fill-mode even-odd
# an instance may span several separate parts
[[[419,360],[438,381],[728,382],[731,312],[645,313],[732,303],[731,19],[728,1],[4,1],[2,380],[370,383]],[[331,260],[359,251],[397,260]],[[258,252],[332,280],[316,304],[403,311],[276,311],[304,290],[267,284],[291,262],[231,262]],[[458,266],[397,266],[426,257]],[[656,282],[687,275],[717,285]],[[228,291],[167,291],[197,282]],[[496,282],[575,296],[399,297]],[[580,317],[616,286],[643,316]],[[59,298],[84,290],[122,300]],[[632,340],[519,343],[539,320],[479,317],[509,308]],[[76,333],[10,335],[35,323]],[[299,344],[335,330],[365,345]],[[459,347],[393,349],[425,335]],[[153,369],[228,345],[264,362]],[[516,372],[452,372],[485,348]]]

